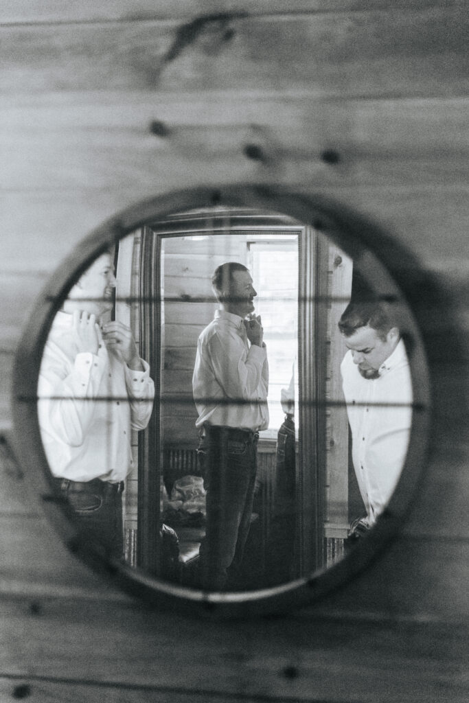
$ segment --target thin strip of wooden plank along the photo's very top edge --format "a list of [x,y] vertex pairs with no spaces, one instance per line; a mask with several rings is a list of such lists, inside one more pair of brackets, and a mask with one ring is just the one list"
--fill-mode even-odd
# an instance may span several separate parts
[[[458,6],[461,0],[446,0],[445,6]],[[256,0],[249,6],[250,15],[296,12],[360,11],[387,8],[428,8],[442,5],[442,0]],[[98,22],[100,20],[155,20],[192,18],[210,13],[245,13],[246,5],[240,0],[107,0],[96,4],[94,0],[79,0],[72,4],[56,0],[4,0],[0,21],[4,24],[18,22]]]

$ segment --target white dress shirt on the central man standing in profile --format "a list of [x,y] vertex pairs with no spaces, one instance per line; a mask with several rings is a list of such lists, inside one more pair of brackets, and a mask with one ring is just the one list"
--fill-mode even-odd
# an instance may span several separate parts
[[[266,430],[269,366],[266,348],[250,344],[243,318],[217,310],[198,338],[193,395],[204,423]],[[236,403],[226,402],[229,399]]]

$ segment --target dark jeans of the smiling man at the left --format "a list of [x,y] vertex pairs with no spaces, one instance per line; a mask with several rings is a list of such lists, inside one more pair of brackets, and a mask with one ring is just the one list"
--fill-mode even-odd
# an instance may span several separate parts
[[122,491],[124,483],[111,484],[56,479],[56,486],[70,507],[82,531],[101,543],[109,557],[123,557]]

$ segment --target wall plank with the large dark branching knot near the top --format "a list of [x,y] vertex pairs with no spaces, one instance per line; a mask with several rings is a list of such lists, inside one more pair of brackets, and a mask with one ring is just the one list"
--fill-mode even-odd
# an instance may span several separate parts
[[11,25],[2,29],[0,86],[20,93],[309,84],[326,94],[447,96],[465,91],[467,22],[459,5],[271,15],[236,20],[229,41],[225,28],[208,27],[179,45],[174,23],[152,20]]

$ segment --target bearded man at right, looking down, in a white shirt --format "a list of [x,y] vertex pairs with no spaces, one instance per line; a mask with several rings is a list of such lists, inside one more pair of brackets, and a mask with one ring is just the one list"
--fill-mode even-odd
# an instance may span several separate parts
[[412,417],[411,373],[390,304],[350,303],[338,326],[349,349],[340,370],[354,470],[366,508],[357,527],[366,531],[383,512],[404,466]]

